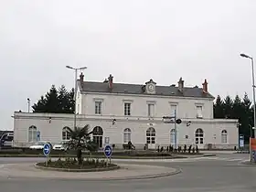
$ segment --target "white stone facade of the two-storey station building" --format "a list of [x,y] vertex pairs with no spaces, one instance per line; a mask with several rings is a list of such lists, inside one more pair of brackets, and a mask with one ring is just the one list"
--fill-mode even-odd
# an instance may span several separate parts
[[[155,94],[155,89],[149,84],[146,87],[148,94],[130,94],[82,91],[80,88],[77,126],[89,124],[91,130],[96,127],[98,135],[93,135],[93,139],[101,146],[109,143],[123,148],[123,144],[131,141],[136,148],[148,144],[148,148],[155,149],[158,145],[175,145],[175,124],[165,123],[163,116],[173,116],[176,110],[176,119],[182,120],[176,124],[178,145],[197,144],[199,148],[238,146],[238,121],[213,119],[212,97],[164,96]],[[73,127],[73,116],[15,112],[14,144],[27,146],[34,143],[37,131],[40,140],[54,144],[68,139],[63,128]]]

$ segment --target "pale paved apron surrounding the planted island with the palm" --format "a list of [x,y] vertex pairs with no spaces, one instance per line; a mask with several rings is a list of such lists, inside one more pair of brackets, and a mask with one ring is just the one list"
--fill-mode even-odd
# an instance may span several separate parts
[[162,176],[172,176],[180,170],[164,166],[151,165],[125,165],[119,164],[121,169],[114,171],[90,173],[66,173],[58,171],[40,170],[33,164],[5,164],[0,166],[0,176],[4,177],[34,177],[34,178],[59,178],[59,179],[84,179],[84,180],[126,180],[144,179]]

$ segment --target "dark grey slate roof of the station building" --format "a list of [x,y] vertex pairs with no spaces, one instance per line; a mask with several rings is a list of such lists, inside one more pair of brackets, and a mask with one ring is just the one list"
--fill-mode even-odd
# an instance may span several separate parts
[[[113,83],[112,91],[109,90],[107,82],[99,81],[83,81],[83,86],[80,86],[80,91],[86,92],[112,92],[112,93],[126,93],[126,94],[145,94],[143,91],[144,85],[140,84],[127,84],[127,83]],[[184,87],[184,91],[178,91],[175,86],[155,86],[155,95],[162,96],[179,96],[179,97],[195,97],[195,98],[211,98],[214,97],[210,93],[203,92],[202,88],[198,87]]]

